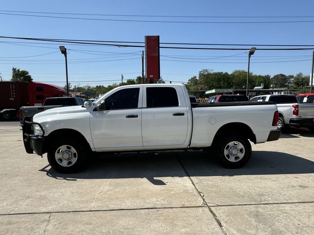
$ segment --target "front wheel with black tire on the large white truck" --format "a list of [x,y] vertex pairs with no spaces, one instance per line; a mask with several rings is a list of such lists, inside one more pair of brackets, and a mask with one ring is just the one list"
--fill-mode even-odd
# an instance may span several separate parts
[[[65,151],[61,150],[62,146],[67,146]],[[71,157],[68,155],[68,152],[72,151],[75,153],[71,153]],[[85,159],[86,159],[86,151],[87,148],[85,146],[85,144],[83,144],[82,141],[78,141],[78,140],[69,140],[69,139],[61,139],[58,140],[57,142],[53,143],[51,145],[51,147],[48,150],[48,162],[51,165],[51,167],[60,173],[75,173],[80,171],[85,163]],[[56,159],[55,154],[57,153],[57,151],[59,152],[59,159]],[[67,151],[67,153],[65,153]],[[67,164],[67,166],[63,166],[61,165],[63,163],[63,155],[62,153],[65,153],[64,156],[68,157],[68,161],[65,160],[65,164]],[[62,158],[61,158],[62,157]]]

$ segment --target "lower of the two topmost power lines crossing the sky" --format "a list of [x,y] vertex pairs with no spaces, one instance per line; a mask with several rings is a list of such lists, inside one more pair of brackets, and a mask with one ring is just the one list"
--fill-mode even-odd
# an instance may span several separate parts
[[80,18],[80,17],[65,17],[65,16],[43,16],[43,15],[30,15],[30,14],[17,14],[17,13],[3,13],[1,15],[13,16],[28,16],[40,18],[54,18],[54,19],[72,19],[72,20],[90,20],[90,21],[111,21],[111,22],[145,22],[145,23],[174,23],[174,24],[278,24],[278,23],[312,23],[314,21],[247,21],[247,22],[205,22],[205,21],[148,21],[148,20],[117,20],[117,19],[100,19],[100,18]]

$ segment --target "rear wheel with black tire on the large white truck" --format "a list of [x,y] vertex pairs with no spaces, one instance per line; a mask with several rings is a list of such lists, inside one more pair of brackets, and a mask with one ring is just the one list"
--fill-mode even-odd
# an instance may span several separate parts
[[[234,146],[230,146],[231,142],[234,142]],[[243,147],[240,147],[241,145],[237,145],[238,143],[240,143]],[[237,149],[239,154],[238,155],[236,154],[236,156],[231,156],[229,154],[228,159],[228,154],[225,154],[225,150],[228,151],[230,150],[231,147],[235,148],[240,147],[240,149]],[[242,167],[250,160],[252,155],[252,148],[250,142],[246,138],[236,135],[230,136],[227,139],[221,138],[220,141],[218,141],[216,150],[220,163],[227,168]],[[242,157],[240,156],[241,153],[244,153]],[[232,161],[232,157],[234,157],[235,161]]]

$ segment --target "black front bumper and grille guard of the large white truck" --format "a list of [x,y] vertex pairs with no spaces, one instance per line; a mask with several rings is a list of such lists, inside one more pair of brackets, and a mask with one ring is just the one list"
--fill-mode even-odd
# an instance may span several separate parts
[[35,152],[36,154],[42,156],[43,145],[47,137],[32,135],[31,125],[33,123],[34,122],[28,122],[28,121],[24,121],[23,123],[22,130],[23,130],[24,147],[27,153]]

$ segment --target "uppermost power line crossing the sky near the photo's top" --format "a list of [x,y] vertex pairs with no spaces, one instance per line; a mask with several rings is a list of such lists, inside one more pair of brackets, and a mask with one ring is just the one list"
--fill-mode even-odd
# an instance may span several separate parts
[[17,13],[55,14],[55,15],[84,15],[84,16],[123,16],[123,17],[171,17],[171,18],[313,18],[314,16],[167,16],[167,15],[117,15],[117,14],[88,14],[88,13],[64,13],[64,12],[38,12],[38,11],[8,11]]

